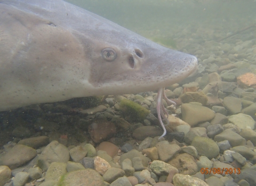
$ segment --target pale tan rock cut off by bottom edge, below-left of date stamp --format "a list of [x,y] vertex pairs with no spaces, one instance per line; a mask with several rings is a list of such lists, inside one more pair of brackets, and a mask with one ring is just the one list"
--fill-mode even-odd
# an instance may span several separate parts
[[182,186],[182,185],[197,185],[197,186],[209,186],[203,180],[192,177],[190,175],[183,175],[183,174],[175,174],[173,176],[173,184],[175,186]]

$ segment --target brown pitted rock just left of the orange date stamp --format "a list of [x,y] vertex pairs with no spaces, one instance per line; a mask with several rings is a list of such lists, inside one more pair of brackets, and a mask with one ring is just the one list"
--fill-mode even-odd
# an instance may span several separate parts
[[194,175],[197,172],[195,158],[187,153],[179,154],[168,162],[178,168],[179,173]]

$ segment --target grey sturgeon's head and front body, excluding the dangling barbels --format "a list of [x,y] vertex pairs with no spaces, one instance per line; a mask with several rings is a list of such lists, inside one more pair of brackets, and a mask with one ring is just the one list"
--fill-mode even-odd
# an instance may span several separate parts
[[0,111],[152,91],[197,66],[194,56],[61,0],[0,0],[0,56]]

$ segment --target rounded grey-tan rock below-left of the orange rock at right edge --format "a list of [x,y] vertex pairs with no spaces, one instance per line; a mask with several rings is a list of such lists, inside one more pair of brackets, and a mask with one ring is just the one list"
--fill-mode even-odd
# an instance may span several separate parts
[[225,97],[223,104],[230,114],[238,114],[242,110],[242,101],[236,97]]

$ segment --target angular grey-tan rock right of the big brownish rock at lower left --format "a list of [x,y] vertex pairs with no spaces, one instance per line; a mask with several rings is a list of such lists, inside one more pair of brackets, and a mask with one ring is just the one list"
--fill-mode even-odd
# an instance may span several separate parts
[[58,141],[52,141],[42,151],[38,157],[37,165],[46,171],[52,162],[68,162],[69,150],[67,147],[59,143]]

